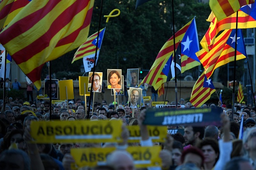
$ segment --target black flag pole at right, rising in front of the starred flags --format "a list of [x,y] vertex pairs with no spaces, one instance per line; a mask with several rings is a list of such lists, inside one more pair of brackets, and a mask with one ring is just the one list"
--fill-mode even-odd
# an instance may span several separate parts
[[234,51],[234,76],[233,76],[233,94],[232,94],[232,114],[231,121],[233,121],[234,116],[234,93],[235,93],[235,79],[236,79],[236,61],[237,61],[237,23],[238,23],[238,12],[237,12],[237,21],[236,21],[236,36],[235,36],[235,51]]

